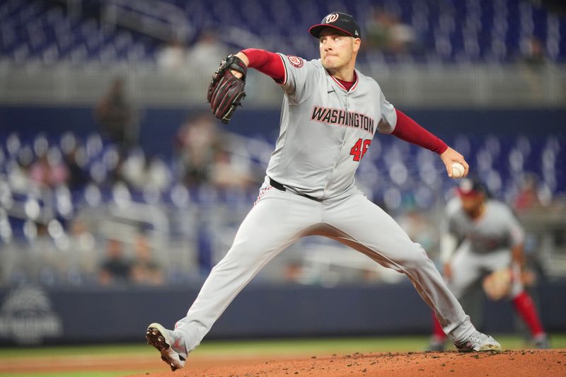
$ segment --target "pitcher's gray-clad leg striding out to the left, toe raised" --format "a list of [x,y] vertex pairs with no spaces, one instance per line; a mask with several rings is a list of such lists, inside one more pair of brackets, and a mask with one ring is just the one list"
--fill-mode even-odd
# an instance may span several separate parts
[[187,316],[176,323],[174,335],[184,342],[178,353],[186,359],[255,274],[318,222],[319,202],[267,188],[243,220],[229,252],[210,272]]

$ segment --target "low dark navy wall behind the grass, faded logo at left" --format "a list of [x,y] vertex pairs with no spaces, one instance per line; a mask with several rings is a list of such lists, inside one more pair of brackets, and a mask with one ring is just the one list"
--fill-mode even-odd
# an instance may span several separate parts
[[[547,282],[535,292],[550,331],[566,331],[565,290],[566,282]],[[4,289],[0,345],[144,342],[146,325],[173,327],[196,295],[197,287]],[[485,331],[516,331],[509,303],[488,302],[483,312]],[[207,339],[427,334],[430,325],[429,309],[408,282],[332,289],[252,283]]]

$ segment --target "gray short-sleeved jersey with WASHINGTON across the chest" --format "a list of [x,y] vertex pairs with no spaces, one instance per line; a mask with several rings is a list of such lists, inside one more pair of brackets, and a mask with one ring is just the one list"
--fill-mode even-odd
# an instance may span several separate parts
[[375,132],[393,132],[397,115],[374,79],[356,70],[350,91],[320,59],[279,54],[285,66],[281,130],[267,175],[318,199],[354,186]]

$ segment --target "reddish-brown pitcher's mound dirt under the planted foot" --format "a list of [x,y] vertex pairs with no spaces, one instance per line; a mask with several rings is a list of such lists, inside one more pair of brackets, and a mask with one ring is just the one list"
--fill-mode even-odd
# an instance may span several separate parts
[[[195,358],[196,359],[196,358]],[[166,367],[163,365],[163,367]],[[483,352],[408,352],[349,354],[306,359],[245,361],[200,364],[185,369],[146,373],[139,377],[248,377],[248,376],[566,376],[566,349]]]

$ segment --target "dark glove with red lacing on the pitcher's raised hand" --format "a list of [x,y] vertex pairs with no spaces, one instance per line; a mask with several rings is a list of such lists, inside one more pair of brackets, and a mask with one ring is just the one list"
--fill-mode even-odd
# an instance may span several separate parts
[[[240,72],[241,79],[236,78],[232,70]],[[222,59],[208,86],[207,101],[210,103],[210,108],[214,116],[226,124],[230,122],[236,107],[241,105],[246,97],[244,86],[246,86],[247,71],[248,67],[242,59],[228,55]]]

